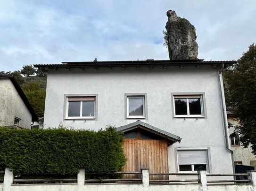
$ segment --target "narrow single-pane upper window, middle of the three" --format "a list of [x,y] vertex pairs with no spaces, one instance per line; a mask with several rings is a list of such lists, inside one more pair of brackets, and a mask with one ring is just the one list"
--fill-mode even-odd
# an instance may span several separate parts
[[125,117],[126,118],[146,118],[147,106],[146,94],[125,94]]

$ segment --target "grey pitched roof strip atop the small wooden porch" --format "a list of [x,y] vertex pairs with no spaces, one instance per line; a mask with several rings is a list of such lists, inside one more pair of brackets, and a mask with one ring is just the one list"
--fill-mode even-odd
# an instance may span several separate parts
[[138,128],[138,126],[140,126],[140,128],[150,131],[151,133],[155,133],[158,136],[161,136],[163,138],[166,138],[168,140],[168,142],[171,144],[176,143],[177,141],[180,143],[182,138],[180,138],[177,135],[173,135],[172,133],[166,132],[164,130],[160,130],[152,125],[149,125],[148,123],[145,122],[141,122],[140,120],[138,120],[137,122],[132,122],[130,124],[124,125],[124,126],[120,126],[116,128],[116,131],[129,131],[129,130],[133,130]]

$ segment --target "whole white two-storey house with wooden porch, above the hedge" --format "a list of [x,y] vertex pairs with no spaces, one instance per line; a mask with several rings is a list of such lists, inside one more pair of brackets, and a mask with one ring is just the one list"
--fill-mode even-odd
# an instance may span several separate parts
[[[125,171],[233,173],[222,70],[236,61],[34,65],[48,73],[44,125],[124,132]],[[166,177],[163,177],[166,178]]]

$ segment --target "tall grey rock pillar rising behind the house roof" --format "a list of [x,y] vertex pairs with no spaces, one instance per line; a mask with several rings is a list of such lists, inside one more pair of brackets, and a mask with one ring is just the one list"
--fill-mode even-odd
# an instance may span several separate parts
[[198,59],[195,27],[187,19],[177,16],[175,11],[169,10],[166,15],[170,60]]

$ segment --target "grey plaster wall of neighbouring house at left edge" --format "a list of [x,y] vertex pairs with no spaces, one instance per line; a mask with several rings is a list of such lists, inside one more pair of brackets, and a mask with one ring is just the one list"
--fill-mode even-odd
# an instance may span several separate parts
[[14,118],[20,119],[19,126],[30,129],[31,113],[9,79],[0,79],[0,125],[14,124]]

